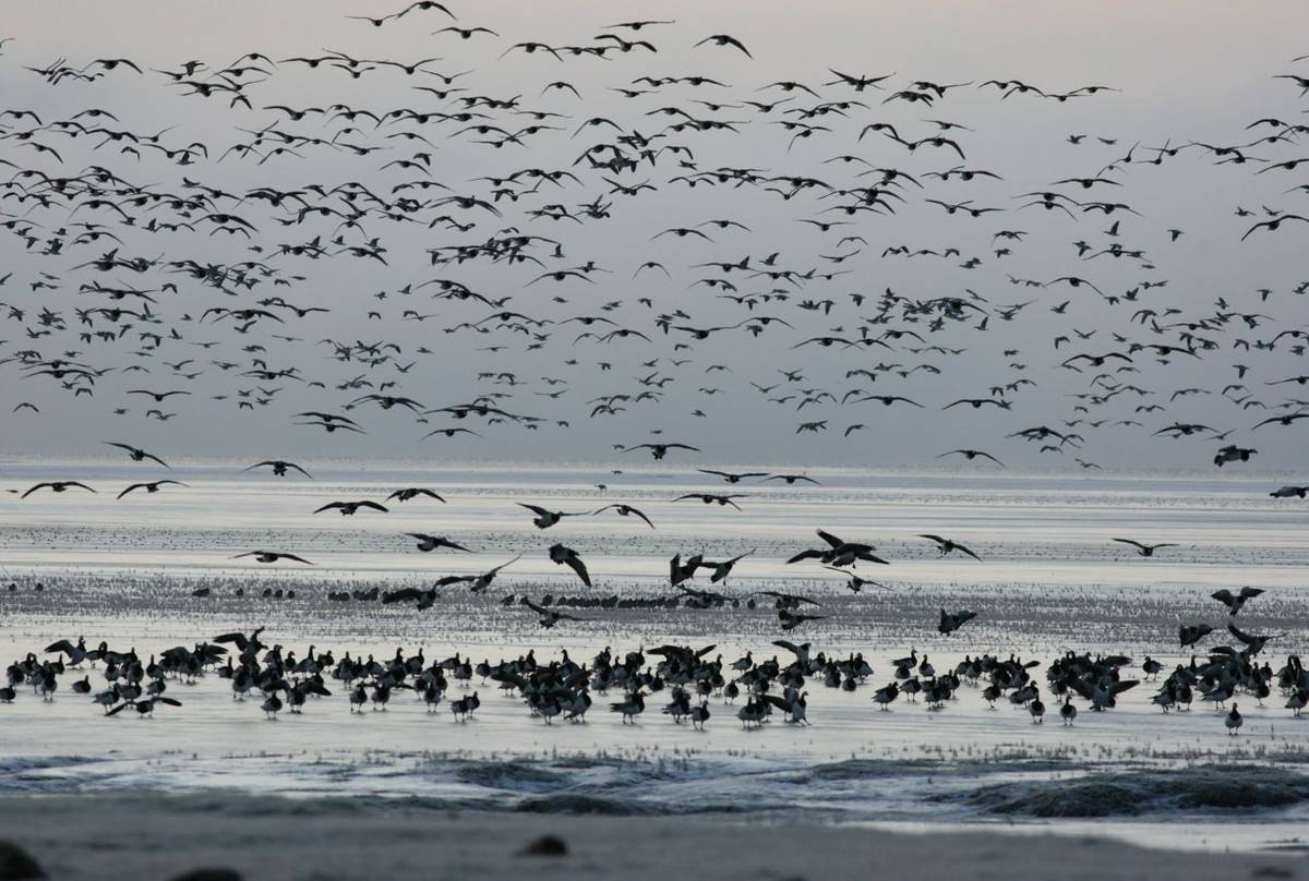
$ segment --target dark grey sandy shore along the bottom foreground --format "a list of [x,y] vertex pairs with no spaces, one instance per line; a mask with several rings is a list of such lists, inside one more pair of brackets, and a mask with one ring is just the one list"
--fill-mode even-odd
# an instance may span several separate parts
[[[1301,877],[1279,855],[1178,854],[1067,836],[906,835],[804,822],[433,812],[355,800],[153,793],[0,799],[0,838],[51,878],[915,878],[1233,881]],[[524,851],[543,835],[562,856]]]

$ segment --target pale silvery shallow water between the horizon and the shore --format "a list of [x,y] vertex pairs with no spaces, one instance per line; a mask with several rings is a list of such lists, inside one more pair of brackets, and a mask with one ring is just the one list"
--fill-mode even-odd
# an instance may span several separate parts
[[[0,592],[0,657],[79,635],[145,656],[262,624],[266,641],[297,656],[317,645],[338,657],[351,651],[386,658],[402,645],[406,655],[421,647],[429,660],[462,652],[474,661],[528,651],[538,660],[560,651],[583,660],[605,645],[628,651],[677,643],[713,644],[712,653],[726,662],[746,651],[785,662],[787,652],[770,644],[785,636],[829,655],[863,652],[873,677],[855,692],[813,681],[813,725],[806,728],[775,721],[742,730],[734,708],[715,699],[702,733],[658,712],[666,694],[651,698],[636,725],[603,712],[601,695],[586,724],[546,725],[495,683],[473,686],[483,706],[467,724],[456,724],[444,706],[429,715],[407,694],[398,694],[387,712],[352,716],[339,683],[338,694],[310,702],[304,715],[266,721],[258,700],[233,703],[228,683],[213,675],[194,686],[170,683],[168,694],[183,707],[161,707],[154,719],[103,719],[68,691],[82,675],[73,673],[52,703],[25,692],[0,707],[9,757],[0,792],[217,787],[399,797],[431,806],[747,809],[764,817],[801,808],[846,822],[928,829],[1000,818],[1007,827],[1094,829],[1160,846],[1224,848],[1285,846],[1309,819],[1309,783],[1301,776],[1309,770],[1309,720],[1292,719],[1278,695],[1266,707],[1241,700],[1246,724],[1237,738],[1225,736],[1221,713],[1199,702],[1183,713],[1152,708],[1148,682],[1113,711],[1084,707],[1072,728],[1059,724],[1054,708],[1045,725],[1008,704],[991,710],[973,687],[939,712],[903,698],[893,712],[878,712],[870,702],[872,691],[890,681],[889,660],[911,648],[928,653],[937,669],[978,652],[1039,661],[1066,649],[1126,653],[1138,670],[1147,653],[1165,664],[1186,661],[1177,624],[1207,620],[1221,628],[1225,615],[1208,593],[1246,584],[1267,593],[1242,611],[1241,626],[1287,632],[1267,652],[1279,666],[1309,636],[1302,580],[1309,507],[1268,499],[1275,479],[823,470],[813,473],[821,487],[732,487],[747,494],[742,511],[733,511],[672,503],[682,492],[724,491],[712,478],[674,469],[615,475],[603,467],[309,467],[313,482],[240,474],[223,463],[179,465],[177,476],[190,488],[114,501],[130,478],[141,476],[139,467],[7,465],[4,488],[58,476],[84,479],[101,492],[0,499],[3,577],[16,585]],[[448,504],[414,500],[386,514],[355,517],[310,513],[326,501],[381,499],[402,486],[431,486]],[[627,501],[657,529],[607,512],[542,533],[516,501],[564,511]],[[856,596],[842,576],[812,562],[787,566],[787,556],[814,546],[817,528],[874,543],[891,564],[860,567],[860,573],[886,589]],[[406,531],[444,534],[475,552],[420,554]],[[916,538],[928,531],[963,542],[983,562],[941,559]],[[1179,547],[1141,559],[1111,543],[1115,535]],[[547,559],[555,541],[583,554],[594,588]],[[317,566],[230,559],[263,547],[301,554]],[[584,609],[576,610],[584,620],[543,631],[530,611],[499,602],[509,593],[664,597],[674,552],[720,559],[753,548],[720,588],[742,601],[737,609]],[[480,572],[520,552],[524,558],[486,594],[446,588],[423,613],[326,601],[329,590],[346,588],[427,586],[441,575]],[[209,586],[212,596],[191,597],[196,586]],[[234,596],[238,586],[245,597]],[[707,588],[707,579],[696,579],[696,586]],[[295,589],[296,598],[260,598],[264,588]],[[810,596],[827,618],[783,635],[767,605],[745,606],[761,589]],[[967,607],[979,618],[942,638],[935,630],[941,606]],[[1215,635],[1203,645],[1219,641]],[[89,673],[98,685],[97,673]],[[1043,683],[1042,668],[1035,673]],[[450,695],[457,692],[452,687]],[[1258,780],[1270,778],[1255,772],[1225,776],[1224,766],[1234,762],[1274,768],[1271,779],[1288,782],[1284,797],[1268,796],[1270,787]],[[1121,789],[1100,785],[1121,782],[1102,775],[1121,774],[1132,775],[1138,787],[1127,800]],[[1169,774],[1182,775],[1182,783]],[[1067,783],[1086,776],[1094,785],[1072,799]],[[1224,784],[1219,797],[1195,801],[1195,792],[1212,791],[1206,782],[1213,778],[1241,785]],[[1141,806],[1124,808],[1136,802]]]

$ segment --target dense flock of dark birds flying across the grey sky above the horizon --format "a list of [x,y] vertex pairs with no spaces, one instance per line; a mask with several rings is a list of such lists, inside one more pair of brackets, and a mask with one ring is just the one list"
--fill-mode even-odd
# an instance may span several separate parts
[[[1121,432],[1208,445],[1179,462],[1249,462],[1257,437],[1309,419],[1295,367],[1309,280],[1172,298],[1161,250],[1186,230],[1128,195],[1187,162],[1196,178],[1250,175],[1302,198],[1309,126],[1287,115],[1300,109],[1228,140],[1075,131],[1069,174],[1009,185],[1007,169],[970,162],[988,141],[969,110],[1026,102],[1075,119],[1119,88],[838,69],[771,80],[744,41],[664,20],[567,45],[514,42],[431,0],[351,20],[370,46],[418,29],[461,63],[336,48],[37,62],[37,47],[4,42],[0,64],[29,62],[7,76],[47,89],[51,106],[88,102],[0,110],[13,253],[0,308],[18,338],[0,342],[0,365],[24,398],[14,419],[54,406],[219,425],[232,408],[267,425],[280,412],[355,439],[332,449],[343,456],[406,420],[415,440],[495,435],[525,449],[538,444],[520,432],[584,445],[639,420],[653,439],[613,449],[661,459],[726,456],[700,420],[741,412],[772,408],[797,420],[784,431],[844,439],[937,408],[950,422],[931,425],[954,435],[969,414],[987,420],[979,432],[1013,419],[987,442],[1009,449],[924,458],[1001,466],[1025,449],[1085,469]],[[695,62],[744,82],[679,72]],[[479,86],[520,67],[528,81],[507,93]],[[1309,72],[1271,82],[1283,106]],[[156,92],[182,122],[134,126]],[[465,166],[480,173],[453,177]],[[1309,232],[1282,207],[1232,213],[1234,249]],[[901,216],[958,243],[905,242]],[[1024,274],[1038,253],[1066,268]],[[870,281],[910,264],[932,293]],[[1212,385],[1173,378],[1198,370]],[[1059,420],[1021,415],[1033,410]],[[665,440],[665,427],[694,436]]]

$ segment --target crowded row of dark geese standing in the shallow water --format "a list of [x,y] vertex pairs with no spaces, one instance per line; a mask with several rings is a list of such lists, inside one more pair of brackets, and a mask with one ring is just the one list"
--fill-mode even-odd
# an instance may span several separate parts
[[[1207,624],[1183,626],[1182,644],[1194,645],[1203,638],[1203,634],[1196,636],[1196,631],[1210,630]],[[1128,678],[1124,673],[1132,668],[1130,657],[1066,652],[1047,665],[1046,694],[1058,706],[1064,725],[1072,725],[1077,717],[1075,698],[1093,712],[1113,710],[1119,695],[1145,679],[1157,686],[1151,704],[1166,713],[1190,710],[1196,699],[1208,703],[1225,711],[1223,721],[1229,734],[1236,734],[1242,725],[1238,695],[1249,695],[1263,706],[1266,698],[1278,692],[1285,698],[1285,708],[1299,719],[1309,704],[1309,670],[1304,669],[1300,656],[1288,655],[1274,669],[1268,661],[1259,660],[1270,636],[1246,634],[1233,623],[1228,624],[1228,631],[1240,649],[1219,645],[1203,658],[1192,655],[1189,664],[1168,670],[1162,681],[1165,666],[1149,656],[1139,666],[1143,678]],[[297,657],[281,644],[264,643],[262,634],[262,627],[250,634],[221,634],[190,648],[164,649],[144,661],[135,649],[114,651],[105,641],[89,648],[82,638],[76,643],[59,640],[45,649],[47,656],[56,656],[54,660],[29,653],[7,668],[8,683],[0,687],[0,703],[13,703],[20,690],[30,690],[41,700],[52,702],[60,677],[76,675],[84,665],[94,668],[98,661],[103,664],[99,670],[103,683],[93,683],[90,674],[84,673],[72,682],[71,690],[103,708],[106,716],[135,712],[152,717],[160,704],[181,707],[182,702],[170,696],[170,692],[177,694],[173,685],[195,685],[206,675],[217,675],[230,683],[234,702],[257,699],[270,720],[283,711],[300,713],[312,702],[331,698],[336,689],[336,694],[346,695],[352,715],[368,707],[385,711],[393,698],[408,691],[428,712],[445,703],[456,721],[467,721],[480,706],[479,691],[469,691],[474,678],[479,678],[483,685],[493,682],[503,694],[518,699],[530,716],[546,724],[555,719],[585,721],[594,703],[592,695],[603,698],[613,691],[620,696],[607,702],[609,710],[620,715],[623,724],[635,723],[645,712],[647,698],[662,694],[666,699],[664,715],[675,724],[690,721],[692,728],[703,730],[712,716],[709,703],[715,698],[723,704],[744,700],[734,716],[745,728],[776,719],[787,724],[809,724],[810,683],[821,682],[829,689],[852,692],[874,675],[861,653],[827,656],[812,652],[809,643],[788,640],[772,643],[788,653],[785,662],[776,655],[759,660],[746,652],[728,664],[721,653],[713,653],[715,645],[666,644],[626,653],[605,647],[581,664],[569,657],[567,649],[550,661],[538,661],[535,652],[529,651],[512,658],[474,664],[459,653],[428,658],[421,648],[414,655],[397,648],[389,660],[372,655],[352,657],[350,652],[338,660],[334,652],[310,645]],[[1014,655],[1008,658],[978,655],[965,656],[953,668],[937,669],[925,653],[912,649],[891,661],[890,681],[873,690],[872,702],[886,711],[901,696],[906,702],[918,702],[920,696],[928,711],[940,711],[958,699],[961,687],[970,686],[991,708],[1007,703],[1025,711],[1033,724],[1041,724],[1047,706],[1042,686],[1031,673],[1038,666],[1041,661]],[[448,696],[452,683],[458,696]]]

